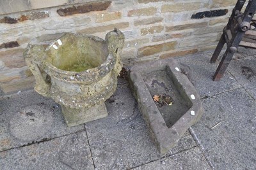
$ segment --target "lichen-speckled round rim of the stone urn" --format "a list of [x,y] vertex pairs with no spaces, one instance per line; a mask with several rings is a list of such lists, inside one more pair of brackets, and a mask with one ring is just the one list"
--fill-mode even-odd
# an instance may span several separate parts
[[[84,38],[92,39],[92,41],[102,41],[103,43],[106,43],[106,40],[99,38],[97,36],[65,32],[63,35],[60,36],[60,38],[57,38],[55,41],[50,43],[47,46],[47,48],[45,49],[45,52],[47,52],[47,50],[49,50],[49,48],[53,48],[52,45],[54,43],[56,43],[56,41],[58,39],[61,39],[64,36],[67,36],[68,34],[72,34],[74,36],[83,36]],[[47,54],[45,53],[45,55],[47,55]],[[94,67],[91,69],[86,69],[81,72],[65,71],[63,69],[59,69],[56,66],[53,66],[50,62],[45,62],[44,64],[47,67],[47,69],[51,70],[51,71],[49,71],[50,76],[54,76],[58,80],[63,80],[62,78],[64,78],[64,79],[66,78],[70,82],[77,82],[77,81],[95,81],[95,80],[103,78],[104,76],[106,76],[106,74],[109,73],[109,71],[111,71],[114,68],[115,62],[116,62],[116,53],[109,52],[108,57],[100,66]],[[62,76],[61,79],[60,79],[60,75]],[[70,79],[70,77],[72,77],[74,79]]]

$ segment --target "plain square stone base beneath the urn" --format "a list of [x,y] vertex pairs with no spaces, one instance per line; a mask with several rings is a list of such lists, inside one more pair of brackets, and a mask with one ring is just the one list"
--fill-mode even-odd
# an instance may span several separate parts
[[84,124],[99,118],[108,116],[105,103],[93,106],[91,108],[72,109],[61,105],[62,114],[68,127]]

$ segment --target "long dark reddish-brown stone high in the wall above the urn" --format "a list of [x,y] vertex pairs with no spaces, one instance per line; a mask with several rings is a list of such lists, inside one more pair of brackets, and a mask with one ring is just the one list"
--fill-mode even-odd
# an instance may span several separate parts
[[90,3],[90,4],[84,4],[81,6],[72,6],[68,8],[60,8],[57,10],[57,13],[61,16],[67,16],[67,15],[73,15],[76,13],[88,13],[90,11],[103,11],[106,10],[109,5],[111,4],[111,1],[106,1],[103,3]]

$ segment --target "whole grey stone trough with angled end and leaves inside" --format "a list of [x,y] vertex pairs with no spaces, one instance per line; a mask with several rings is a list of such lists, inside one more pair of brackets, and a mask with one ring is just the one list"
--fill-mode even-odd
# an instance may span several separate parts
[[[175,146],[204,112],[195,87],[174,59],[134,66],[129,81],[160,153]],[[160,104],[161,96],[170,96],[172,102]]]

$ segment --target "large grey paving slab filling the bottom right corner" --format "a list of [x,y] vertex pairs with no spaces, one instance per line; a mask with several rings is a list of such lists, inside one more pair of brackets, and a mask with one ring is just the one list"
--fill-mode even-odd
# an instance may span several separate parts
[[236,89],[204,99],[205,114],[191,127],[214,169],[256,169],[256,103]]

